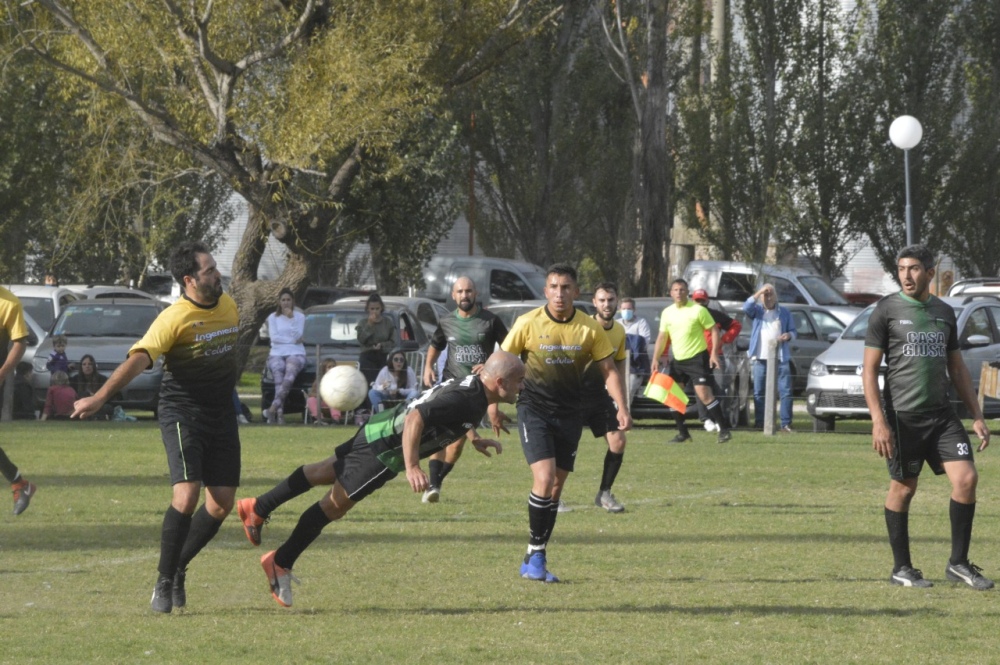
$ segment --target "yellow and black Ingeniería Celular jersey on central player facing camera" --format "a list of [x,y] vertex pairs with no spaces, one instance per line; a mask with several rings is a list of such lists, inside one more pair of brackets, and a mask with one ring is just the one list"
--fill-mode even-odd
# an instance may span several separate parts
[[584,371],[615,352],[604,328],[586,313],[574,308],[572,317],[558,321],[544,306],[518,317],[501,348],[524,361],[517,403],[560,413],[583,408]]

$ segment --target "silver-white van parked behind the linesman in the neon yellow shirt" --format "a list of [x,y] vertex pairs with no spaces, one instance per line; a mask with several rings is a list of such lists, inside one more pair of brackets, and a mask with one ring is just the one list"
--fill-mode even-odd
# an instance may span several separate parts
[[753,265],[738,261],[692,261],[684,268],[691,291],[705,289],[710,298],[742,306],[763,284],[774,284],[778,302],[818,305],[849,325],[861,313],[819,275],[790,266]]

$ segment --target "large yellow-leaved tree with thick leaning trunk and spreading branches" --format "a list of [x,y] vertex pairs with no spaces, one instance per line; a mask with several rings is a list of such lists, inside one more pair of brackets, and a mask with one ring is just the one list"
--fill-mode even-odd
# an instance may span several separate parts
[[[301,291],[322,250],[350,237],[340,212],[368,160],[391,160],[415,120],[501,57],[540,4],[3,2],[22,48],[246,199],[231,283],[244,358],[278,290]],[[264,283],[272,234],[288,260]]]

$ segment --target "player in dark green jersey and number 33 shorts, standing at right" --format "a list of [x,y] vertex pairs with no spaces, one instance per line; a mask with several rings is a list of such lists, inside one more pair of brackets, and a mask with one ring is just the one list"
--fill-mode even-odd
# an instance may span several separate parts
[[[872,416],[872,448],[889,467],[885,500],[893,558],[889,581],[932,586],[910,560],[908,519],[917,479],[927,462],[935,474],[947,474],[951,482],[951,557],[945,577],[973,589],[990,589],[993,582],[969,561],[979,474],[970,437],[949,399],[949,387],[954,386],[972,414],[980,452],[989,445],[990,431],[959,352],[954,310],[930,293],[934,254],[923,245],[904,247],[896,257],[896,271],[902,289],[882,298],[868,320],[861,375]],[[878,385],[883,358],[884,392]]]

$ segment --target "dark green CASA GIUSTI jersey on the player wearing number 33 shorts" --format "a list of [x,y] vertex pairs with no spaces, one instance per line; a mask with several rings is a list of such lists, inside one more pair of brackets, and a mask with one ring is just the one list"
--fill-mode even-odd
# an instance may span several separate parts
[[949,406],[948,354],[958,350],[958,322],[940,298],[920,302],[902,293],[882,298],[868,320],[865,346],[885,355],[886,408],[911,412]]

